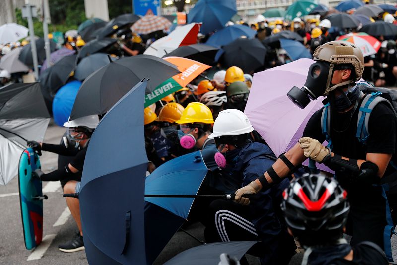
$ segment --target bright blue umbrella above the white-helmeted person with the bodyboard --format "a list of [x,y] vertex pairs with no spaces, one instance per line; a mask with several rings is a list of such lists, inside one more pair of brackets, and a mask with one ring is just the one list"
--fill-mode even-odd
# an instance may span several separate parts
[[73,107],[80,86],[80,81],[73,80],[62,86],[55,94],[53,101],[53,117],[54,122],[58,126],[64,126],[64,123],[69,119],[71,108]]

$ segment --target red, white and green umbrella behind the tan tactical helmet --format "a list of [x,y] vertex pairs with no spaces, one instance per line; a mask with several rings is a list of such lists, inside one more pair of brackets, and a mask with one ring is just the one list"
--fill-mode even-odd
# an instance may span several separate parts
[[349,33],[340,36],[338,40],[354,43],[361,49],[364,56],[376,54],[381,48],[381,42],[365,32]]

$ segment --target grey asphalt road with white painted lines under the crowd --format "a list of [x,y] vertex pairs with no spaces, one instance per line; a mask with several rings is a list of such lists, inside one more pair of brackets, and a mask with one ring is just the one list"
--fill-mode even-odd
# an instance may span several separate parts
[[[45,142],[59,143],[65,129],[56,125],[49,126]],[[57,168],[57,155],[43,152],[40,158],[44,172],[51,172]],[[77,232],[59,182],[43,182],[43,193],[48,196],[44,201],[44,229],[42,244],[35,250],[25,249],[23,241],[22,221],[18,197],[18,180],[14,178],[7,186],[0,186],[0,264],[3,265],[86,265],[87,258],[84,251],[63,253],[58,245],[70,240]],[[194,223],[186,228],[187,232],[204,240],[203,226]],[[160,265],[176,254],[191,247],[199,246],[196,239],[179,231],[170,240],[154,264]],[[397,240],[393,238],[392,247],[396,256]],[[259,265],[259,259],[250,255],[251,265]],[[293,257],[290,265],[298,265],[301,254]]]

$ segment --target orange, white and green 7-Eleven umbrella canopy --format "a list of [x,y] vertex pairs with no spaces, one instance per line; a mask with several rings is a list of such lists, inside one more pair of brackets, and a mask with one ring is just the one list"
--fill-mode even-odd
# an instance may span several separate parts
[[165,57],[164,60],[176,65],[181,73],[169,78],[157,86],[151,93],[146,94],[145,107],[150,106],[151,104],[161,100],[163,97],[185,87],[193,81],[193,79],[199,76],[199,74],[211,67],[182,57]]

